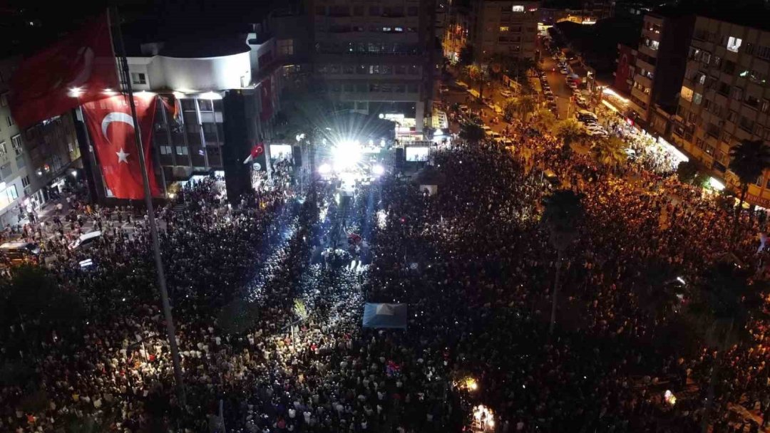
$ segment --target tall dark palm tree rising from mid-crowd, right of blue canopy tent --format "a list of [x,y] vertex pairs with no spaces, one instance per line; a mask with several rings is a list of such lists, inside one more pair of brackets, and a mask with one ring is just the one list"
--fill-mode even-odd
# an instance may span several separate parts
[[556,305],[559,294],[559,277],[561,275],[561,262],[564,259],[564,251],[577,237],[577,224],[584,215],[582,195],[577,195],[571,190],[562,189],[545,198],[545,210],[542,221],[547,225],[551,239],[551,245],[556,249],[556,275],[554,276],[554,295],[551,300],[551,325],[548,328],[550,334],[554,333],[556,325]]

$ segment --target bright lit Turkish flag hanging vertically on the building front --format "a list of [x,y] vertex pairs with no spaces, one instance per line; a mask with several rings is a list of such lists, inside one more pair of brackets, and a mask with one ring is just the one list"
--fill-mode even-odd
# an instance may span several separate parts
[[[153,196],[160,195],[155,175],[152,173],[152,158],[149,152],[157,101],[156,95],[134,95],[149,189]],[[89,135],[107,184],[107,195],[115,198],[144,198],[142,168],[139,167],[134,138],[136,125],[131,117],[128,97],[117,95],[89,102],[83,105],[83,112],[85,125],[89,128]]]

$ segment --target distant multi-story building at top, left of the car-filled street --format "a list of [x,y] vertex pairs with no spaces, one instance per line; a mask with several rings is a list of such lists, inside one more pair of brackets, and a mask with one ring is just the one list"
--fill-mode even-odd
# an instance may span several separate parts
[[474,60],[484,63],[495,55],[534,58],[539,2],[473,0],[470,41]]

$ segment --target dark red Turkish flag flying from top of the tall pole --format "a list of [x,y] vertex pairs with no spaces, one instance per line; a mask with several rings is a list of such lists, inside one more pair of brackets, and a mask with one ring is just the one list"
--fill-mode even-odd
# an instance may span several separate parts
[[32,57],[11,78],[9,105],[26,128],[119,90],[107,14]]

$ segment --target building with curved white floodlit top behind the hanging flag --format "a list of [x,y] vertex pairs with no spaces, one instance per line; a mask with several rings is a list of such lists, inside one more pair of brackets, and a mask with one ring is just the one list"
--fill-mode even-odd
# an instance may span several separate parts
[[[249,141],[272,136],[286,56],[279,54],[276,38],[263,32],[248,33],[239,41],[192,53],[153,42],[142,45],[144,55],[128,58],[134,92],[166,97],[166,104],[157,105],[152,136],[153,156],[162,167],[159,181],[170,183],[225,168],[223,98],[230,90],[240,91],[239,100],[249,105],[252,115],[243,125]],[[284,51],[291,53],[290,48]],[[244,158],[247,153],[248,149]]]

